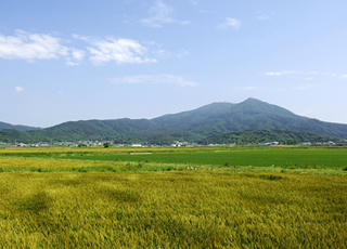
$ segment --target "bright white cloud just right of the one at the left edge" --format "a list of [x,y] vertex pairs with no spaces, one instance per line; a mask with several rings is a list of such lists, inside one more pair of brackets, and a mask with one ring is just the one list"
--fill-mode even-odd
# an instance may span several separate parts
[[115,61],[124,63],[155,63],[155,58],[145,57],[146,48],[130,39],[90,40],[93,48],[87,48],[91,54],[89,60],[94,64]]

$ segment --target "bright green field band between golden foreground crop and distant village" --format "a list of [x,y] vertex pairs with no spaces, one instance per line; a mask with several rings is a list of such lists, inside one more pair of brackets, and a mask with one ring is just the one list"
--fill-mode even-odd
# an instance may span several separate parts
[[[281,170],[336,170],[343,173],[347,168],[347,148],[309,146],[224,146],[224,147],[181,147],[181,148],[66,148],[66,149],[2,149],[2,158],[54,159],[59,161],[86,161],[131,165],[136,171],[157,171],[158,167],[175,166],[175,170],[188,167],[198,169],[252,167],[254,170],[277,168]],[[106,168],[107,168],[106,167]],[[121,168],[121,167],[120,167]],[[47,169],[48,170],[48,169]],[[89,168],[89,171],[95,169]],[[120,171],[131,171],[125,168]],[[98,171],[98,170],[97,170]]]

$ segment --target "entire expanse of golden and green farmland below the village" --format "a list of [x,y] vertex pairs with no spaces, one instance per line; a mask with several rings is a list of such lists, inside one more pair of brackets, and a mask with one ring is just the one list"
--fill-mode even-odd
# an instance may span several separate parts
[[1,149],[0,248],[347,248],[346,159],[342,148]]

